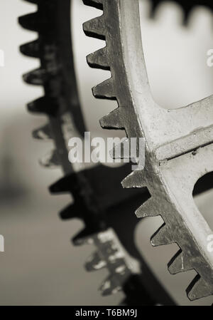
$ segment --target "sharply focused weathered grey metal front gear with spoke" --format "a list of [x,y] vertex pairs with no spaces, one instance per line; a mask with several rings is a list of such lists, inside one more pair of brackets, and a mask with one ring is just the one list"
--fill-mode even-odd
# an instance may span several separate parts
[[187,289],[191,300],[213,294],[212,234],[192,199],[195,182],[213,170],[213,96],[185,108],[165,110],[151,96],[143,58],[138,0],[84,0],[104,14],[84,23],[84,32],[106,40],[89,56],[95,68],[108,68],[111,78],[93,88],[97,98],[117,100],[119,108],[101,120],[103,128],[125,129],[128,138],[146,138],[146,165],[123,181],[124,187],[147,187],[151,199],[138,217],[163,217],[153,246],[177,243],[180,252],[171,273],[195,269]]

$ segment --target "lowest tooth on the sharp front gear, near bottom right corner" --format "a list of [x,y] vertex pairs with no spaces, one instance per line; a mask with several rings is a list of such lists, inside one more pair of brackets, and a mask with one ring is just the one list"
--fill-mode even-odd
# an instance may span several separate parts
[[212,288],[209,288],[209,284],[200,277],[199,274],[191,282],[187,288],[187,296],[191,301],[204,298],[205,296],[211,296],[213,294]]

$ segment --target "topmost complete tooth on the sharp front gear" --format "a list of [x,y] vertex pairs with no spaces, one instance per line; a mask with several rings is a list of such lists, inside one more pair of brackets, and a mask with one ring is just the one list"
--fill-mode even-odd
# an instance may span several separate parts
[[105,40],[105,26],[104,26],[104,16],[97,16],[83,24],[84,33],[87,36],[93,36]]

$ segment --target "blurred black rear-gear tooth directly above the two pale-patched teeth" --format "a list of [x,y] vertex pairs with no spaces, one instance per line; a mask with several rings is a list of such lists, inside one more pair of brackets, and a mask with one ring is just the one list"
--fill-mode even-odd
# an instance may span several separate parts
[[28,111],[33,113],[47,113],[55,115],[58,110],[58,102],[54,98],[41,97],[27,105]]

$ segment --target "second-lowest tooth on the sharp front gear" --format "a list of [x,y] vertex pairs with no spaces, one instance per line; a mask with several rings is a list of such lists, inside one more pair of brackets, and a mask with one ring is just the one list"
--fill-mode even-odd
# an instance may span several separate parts
[[170,274],[178,274],[179,272],[187,272],[192,268],[189,267],[188,261],[185,257],[184,252],[180,249],[173,259],[168,263],[168,270]]

